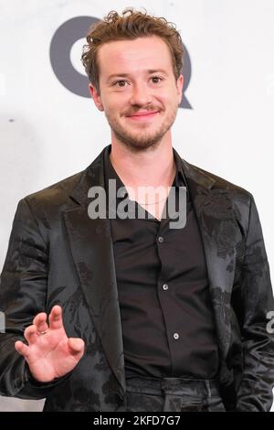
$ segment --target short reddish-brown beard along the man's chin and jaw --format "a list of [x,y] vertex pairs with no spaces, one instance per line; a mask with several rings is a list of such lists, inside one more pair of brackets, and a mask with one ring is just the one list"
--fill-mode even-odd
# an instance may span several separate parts
[[[150,110],[153,111],[153,109]],[[115,117],[112,117],[111,114],[105,112],[105,115],[116,139],[132,151],[139,152],[151,146],[160,144],[164,134],[166,134],[174,124],[177,112],[178,105],[175,105],[171,109],[170,113],[163,119],[163,124],[161,124],[158,130],[155,131],[150,131],[150,127],[153,127],[153,124],[149,124],[147,127],[142,127],[142,124],[139,124],[139,127],[137,126],[136,130],[131,131],[126,125],[122,125]],[[162,111],[158,113],[158,115],[161,114]]]

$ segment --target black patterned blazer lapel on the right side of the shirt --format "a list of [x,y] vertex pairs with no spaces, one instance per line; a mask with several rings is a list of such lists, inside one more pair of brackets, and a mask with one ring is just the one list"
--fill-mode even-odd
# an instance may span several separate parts
[[204,242],[219,349],[222,358],[226,359],[231,334],[230,296],[240,232],[229,190],[214,188],[216,180],[213,177],[184,160],[182,162]]

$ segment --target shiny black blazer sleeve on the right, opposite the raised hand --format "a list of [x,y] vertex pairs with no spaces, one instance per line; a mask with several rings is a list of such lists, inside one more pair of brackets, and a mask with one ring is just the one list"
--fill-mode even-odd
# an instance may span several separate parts
[[243,377],[237,390],[237,411],[268,412],[274,384],[274,311],[269,263],[253,197],[250,197],[246,254],[240,282]]

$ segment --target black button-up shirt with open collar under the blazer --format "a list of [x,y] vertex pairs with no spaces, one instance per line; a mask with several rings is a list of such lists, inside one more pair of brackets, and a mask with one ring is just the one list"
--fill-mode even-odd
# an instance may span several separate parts
[[[104,160],[107,195],[108,179],[124,187],[110,152]],[[126,377],[215,379],[218,348],[204,247],[175,150],[174,160],[173,186],[186,187],[184,228],[170,229],[168,217],[151,214],[111,219]]]

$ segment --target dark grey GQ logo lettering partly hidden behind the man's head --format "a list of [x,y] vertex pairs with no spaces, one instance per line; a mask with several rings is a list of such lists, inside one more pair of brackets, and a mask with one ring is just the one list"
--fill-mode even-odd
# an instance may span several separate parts
[[[50,43],[50,62],[58,81],[61,82],[68,91],[74,92],[81,97],[90,98],[88,88],[88,77],[85,77],[75,70],[70,60],[70,50],[75,42],[99,19],[93,16],[76,16],[68,19],[58,27]],[[184,47],[184,91],[188,87],[191,76],[191,64],[187,49]],[[183,109],[192,109],[185,96],[180,104]]]

